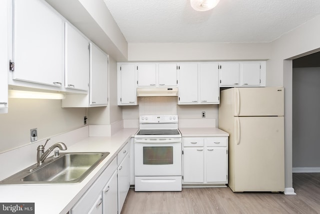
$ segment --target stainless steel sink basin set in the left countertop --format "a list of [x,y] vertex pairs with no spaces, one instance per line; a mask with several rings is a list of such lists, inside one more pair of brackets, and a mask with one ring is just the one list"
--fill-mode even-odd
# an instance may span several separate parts
[[0,181],[0,184],[77,183],[83,180],[109,152],[68,152],[48,157]]

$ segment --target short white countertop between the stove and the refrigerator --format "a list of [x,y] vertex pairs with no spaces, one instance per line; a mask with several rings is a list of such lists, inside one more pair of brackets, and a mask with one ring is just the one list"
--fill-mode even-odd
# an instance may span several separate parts
[[179,128],[182,137],[227,137],[229,134],[218,128]]

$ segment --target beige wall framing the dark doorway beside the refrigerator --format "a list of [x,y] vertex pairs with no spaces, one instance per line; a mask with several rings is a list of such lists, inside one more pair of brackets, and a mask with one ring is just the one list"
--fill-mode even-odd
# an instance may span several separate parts
[[292,59],[320,50],[320,16],[271,43],[267,86],[284,86],[285,187],[292,187]]

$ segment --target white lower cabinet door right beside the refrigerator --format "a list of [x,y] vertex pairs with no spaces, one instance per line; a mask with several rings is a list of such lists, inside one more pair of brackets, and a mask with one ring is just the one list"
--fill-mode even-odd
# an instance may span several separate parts
[[206,147],[205,152],[206,182],[226,183],[226,147]]

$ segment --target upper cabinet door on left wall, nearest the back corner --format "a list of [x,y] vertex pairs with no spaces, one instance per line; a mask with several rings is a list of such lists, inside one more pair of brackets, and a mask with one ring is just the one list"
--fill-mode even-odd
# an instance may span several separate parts
[[90,43],[90,105],[108,102],[108,56]]

